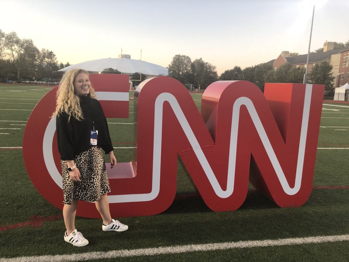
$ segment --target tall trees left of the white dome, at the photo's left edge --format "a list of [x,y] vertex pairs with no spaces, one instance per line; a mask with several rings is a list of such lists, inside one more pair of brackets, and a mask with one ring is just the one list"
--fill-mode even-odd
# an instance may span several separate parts
[[39,50],[32,39],[20,38],[16,32],[6,34],[0,29],[0,82],[60,79],[61,73],[56,71],[69,66],[69,62],[59,66],[57,63],[53,51]]

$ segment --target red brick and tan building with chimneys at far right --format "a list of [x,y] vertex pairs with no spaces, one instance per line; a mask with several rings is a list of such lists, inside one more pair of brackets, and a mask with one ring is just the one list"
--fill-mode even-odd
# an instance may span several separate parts
[[[309,74],[311,73],[311,70],[315,64],[321,63],[322,61],[327,61],[333,67],[332,76],[335,77],[335,80],[333,81],[333,84],[335,85],[337,76],[339,74],[339,68],[342,66],[341,62],[343,62],[342,55],[344,57],[349,57],[349,54],[348,54],[348,47],[335,49],[335,50],[333,50],[333,48],[334,48],[334,42],[325,42],[323,52],[309,54],[307,80],[310,80]],[[344,55],[343,52],[346,53],[346,55]],[[270,60],[269,62],[267,62],[267,64],[272,65],[274,70],[279,66],[282,66],[286,62],[291,63],[292,66],[305,68],[306,60],[307,60],[307,54],[301,54],[299,56],[290,57],[289,51],[282,51],[281,54],[276,59]],[[347,66],[346,70],[348,68],[349,67]]]

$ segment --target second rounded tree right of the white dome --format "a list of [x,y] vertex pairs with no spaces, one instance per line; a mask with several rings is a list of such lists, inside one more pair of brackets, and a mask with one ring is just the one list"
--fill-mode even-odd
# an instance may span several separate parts
[[200,85],[201,88],[205,89],[211,83],[218,80],[218,74],[216,72],[216,67],[208,62],[200,59],[195,59],[191,64],[192,70],[192,83],[198,88]]

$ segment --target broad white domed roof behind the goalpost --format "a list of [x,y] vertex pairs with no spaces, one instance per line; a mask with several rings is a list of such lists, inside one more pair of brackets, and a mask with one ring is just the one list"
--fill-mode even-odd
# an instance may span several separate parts
[[[121,70],[122,60],[122,70]],[[133,74],[141,71],[141,60],[128,58],[102,58],[85,61],[79,64],[67,66],[59,71],[68,71],[72,68],[82,68],[87,71],[102,72],[104,68],[117,69],[123,74]],[[166,67],[142,61],[142,74],[146,75],[168,75]]]

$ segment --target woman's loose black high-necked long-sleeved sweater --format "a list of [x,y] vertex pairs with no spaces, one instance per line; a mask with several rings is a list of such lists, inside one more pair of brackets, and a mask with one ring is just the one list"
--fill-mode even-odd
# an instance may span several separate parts
[[89,150],[90,131],[93,130],[93,122],[95,122],[95,130],[98,130],[97,146],[102,147],[105,154],[113,151],[108,124],[103,113],[103,109],[98,100],[87,96],[80,96],[80,107],[82,109],[83,118],[81,121],[74,116],[63,112],[56,118],[56,131],[58,140],[58,151],[61,160],[74,160],[76,155]]

